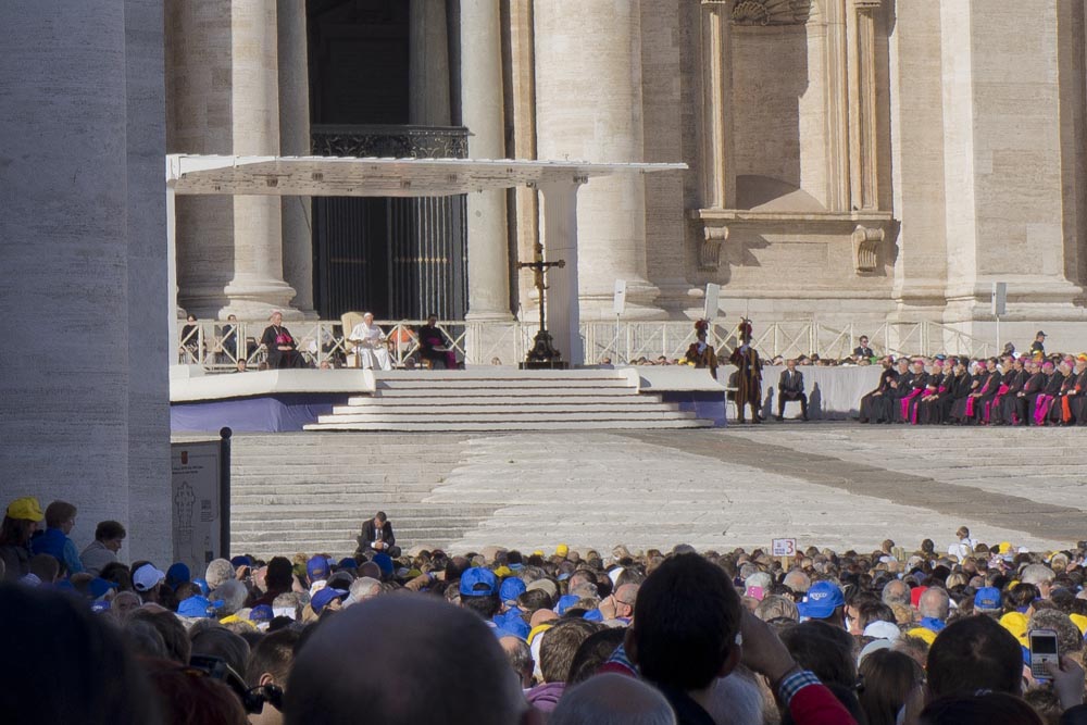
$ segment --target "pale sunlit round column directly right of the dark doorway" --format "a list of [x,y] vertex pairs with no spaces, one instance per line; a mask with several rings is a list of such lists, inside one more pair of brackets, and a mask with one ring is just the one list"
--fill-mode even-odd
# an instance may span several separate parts
[[[505,158],[502,29],[499,0],[461,0],[461,114],[468,157]],[[466,320],[511,320],[505,191],[468,195]]]

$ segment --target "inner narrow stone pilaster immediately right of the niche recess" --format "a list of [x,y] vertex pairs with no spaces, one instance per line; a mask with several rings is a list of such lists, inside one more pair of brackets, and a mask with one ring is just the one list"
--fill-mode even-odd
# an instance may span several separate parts
[[846,2],[826,0],[826,208],[849,211],[849,40]]

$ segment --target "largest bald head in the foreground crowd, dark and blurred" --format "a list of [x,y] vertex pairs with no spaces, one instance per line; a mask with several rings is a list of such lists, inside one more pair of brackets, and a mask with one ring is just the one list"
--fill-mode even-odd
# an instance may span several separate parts
[[509,725],[527,712],[484,621],[429,597],[378,597],[318,625],[296,657],[285,705],[287,725],[362,716],[389,725]]

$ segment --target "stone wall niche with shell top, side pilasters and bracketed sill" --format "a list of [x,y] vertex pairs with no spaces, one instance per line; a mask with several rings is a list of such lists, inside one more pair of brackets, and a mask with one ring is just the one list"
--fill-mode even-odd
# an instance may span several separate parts
[[699,272],[726,292],[888,293],[877,11],[857,0],[703,0],[707,184],[690,215]]

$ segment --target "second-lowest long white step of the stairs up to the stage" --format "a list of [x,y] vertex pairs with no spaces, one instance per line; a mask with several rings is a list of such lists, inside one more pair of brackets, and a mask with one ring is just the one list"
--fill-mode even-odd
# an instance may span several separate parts
[[637,421],[655,422],[655,421],[692,421],[696,420],[695,414],[690,412],[680,412],[676,410],[666,411],[644,411],[641,409],[635,409],[632,411],[623,411],[622,413],[614,412],[596,412],[596,411],[537,411],[534,407],[526,407],[525,410],[499,410],[490,413],[476,413],[476,414],[465,414],[465,413],[449,413],[441,410],[435,410],[428,413],[426,416],[415,416],[415,415],[397,415],[395,413],[388,413],[385,411],[375,412],[352,412],[343,413],[338,415],[322,415],[317,418],[317,424],[334,424],[340,425],[343,423],[374,423],[374,424],[411,424],[413,422],[426,422],[426,423],[447,423],[449,425],[461,426],[464,424],[482,423],[482,424],[501,424],[501,423],[588,423],[592,421],[608,422],[616,421],[623,423],[633,423]]

